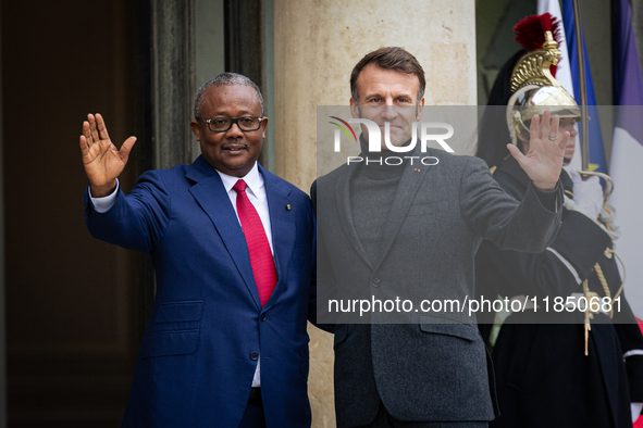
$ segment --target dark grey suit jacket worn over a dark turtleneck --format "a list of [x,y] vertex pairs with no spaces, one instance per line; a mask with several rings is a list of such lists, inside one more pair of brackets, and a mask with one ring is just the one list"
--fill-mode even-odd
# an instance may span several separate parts
[[[474,295],[474,255],[481,240],[502,249],[541,252],[554,239],[560,212],[545,209],[530,185],[519,203],[477,158],[429,149],[434,166],[407,165],[382,231],[376,261],[356,232],[344,165],[311,189],[318,214],[318,309],[324,299],[463,299]],[[419,169],[419,171],[417,171]],[[557,206],[561,205],[558,186]],[[415,306],[416,309],[418,306]],[[319,312],[319,311],[318,311]],[[346,316],[347,314],[343,314]],[[335,320],[335,410],[339,427],[369,424],[380,399],[401,420],[491,420],[487,358],[474,317],[459,312],[382,313],[370,324]],[[327,319],[327,318],[326,318]]]

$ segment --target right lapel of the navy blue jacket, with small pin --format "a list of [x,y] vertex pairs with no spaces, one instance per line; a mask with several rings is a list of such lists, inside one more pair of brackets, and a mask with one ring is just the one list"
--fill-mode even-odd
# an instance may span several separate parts
[[[279,278],[272,295],[265,302],[264,310],[267,310],[274,304],[279,295],[285,290],[286,273],[288,272],[297,231],[295,215],[301,207],[293,206],[294,202],[289,198],[290,189],[282,182],[281,178],[269,173],[261,165],[259,165],[259,172],[263,176],[265,185],[272,231],[272,249]],[[288,210],[287,205],[290,205],[292,209]]]

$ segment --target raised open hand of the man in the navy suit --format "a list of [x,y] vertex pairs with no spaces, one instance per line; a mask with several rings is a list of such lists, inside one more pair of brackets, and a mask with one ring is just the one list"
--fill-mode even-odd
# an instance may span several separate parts
[[83,122],[81,152],[85,174],[89,178],[91,196],[102,198],[111,194],[116,188],[116,178],[123,172],[136,137],[129,137],[121,146],[121,150],[110,140],[100,114],[88,114]]

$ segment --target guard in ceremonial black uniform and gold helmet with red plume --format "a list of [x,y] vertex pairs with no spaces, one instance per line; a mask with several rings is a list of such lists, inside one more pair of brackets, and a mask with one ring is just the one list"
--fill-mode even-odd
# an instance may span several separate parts
[[[477,155],[518,200],[529,178],[506,146],[525,151],[534,114],[549,110],[560,117],[559,134],[572,137],[567,163],[573,155],[580,109],[554,78],[560,55],[557,26],[549,14],[529,16],[516,26],[525,50],[505,64],[489,102],[506,108],[487,109],[482,121]],[[498,123],[509,131],[500,131]],[[620,232],[616,212],[604,203],[598,177],[583,180],[578,172],[564,169],[560,179],[566,193],[562,226],[545,252],[502,251],[483,241],[475,260],[479,298],[530,299],[527,310],[508,316],[499,333],[491,328],[497,314],[479,317],[493,347],[500,410],[490,427],[630,428],[643,403],[643,337],[622,292],[614,244]],[[557,297],[565,303],[554,307]],[[592,298],[610,305],[578,310]]]

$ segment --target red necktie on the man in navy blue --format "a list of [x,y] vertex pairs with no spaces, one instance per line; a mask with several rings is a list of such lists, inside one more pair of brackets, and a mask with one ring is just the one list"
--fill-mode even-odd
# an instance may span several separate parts
[[250,253],[250,265],[252,265],[252,276],[255,277],[255,284],[257,284],[261,306],[263,306],[276,286],[277,277],[263,224],[246,194],[247,186],[246,181],[239,179],[233,186],[233,190],[237,192],[237,215],[246,236],[246,243]]

